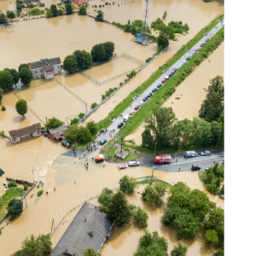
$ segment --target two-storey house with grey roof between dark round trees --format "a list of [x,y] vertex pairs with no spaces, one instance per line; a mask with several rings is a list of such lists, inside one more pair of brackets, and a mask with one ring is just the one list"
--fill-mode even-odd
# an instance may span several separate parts
[[28,63],[32,70],[33,79],[54,79],[55,74],[61,73],[61,58],[41,59]]

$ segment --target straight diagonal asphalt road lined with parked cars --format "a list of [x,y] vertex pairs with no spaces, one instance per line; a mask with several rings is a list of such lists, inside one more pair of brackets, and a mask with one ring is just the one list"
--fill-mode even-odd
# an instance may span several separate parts
[[[223,20],[223,22],[224,22],[224,20]],[[201,38],[201,40],[198,41],[195,45],[193,45],[193,46],[191,45],[191,46],[190,46],[191,49],[189,49],[189,51],[188,51],[186,54],[184,54],[178,61],[176,61],[175,64],[172,65],[172,67],[170,67],[165,73],[163,73],[163,74],[160,76],[159,79],[157,79],[156,81],[154,81],[154,83],[151,84],[151,85],[148,87],[147,90],[144,90],[143,93],[142,93],[140,96],[138,96],[137,99],[134,100],[134,102],[131,103],[131,107],[126,108],[125,111],[124,111],[123,113],[121,113],[121,115],[122,115],[123,117],[125,117],[125,115],[129,114],[129,113],[131,112],[131,110],[133,110],[137,105],[139,105],[140,102],[143,102],[143,98],[144,98],[145,96],[148,96],[148,93],[149,93],[149,92],[152,92],[152,90],[153,90],[154,88],[157,88],[157,84],[160,84],[161,81],[162,81],[163,79],[165,79],[165,77],[166,77],[169,73],[172,73],[173,68],[179,66],[183,61],[186,60],[186,58],[187,58],[192,52],[194,52],[194,50],[195,50],[196,48],[198,48],[198,47],[200,48],[200,44],[202,44],[203,42],[205,42],[205,40],[206,40],[207,38],[209,38],[209,39],[212,38],[212,37],[216,34],[216,32],[218,32],[221,28],[222,28],[221,22],[218,22],[217,28],[213,27],[212,30],[207,33],[207,36],[204,36],[203,38]],[[209,44],[209,43],[207,43],[207,44]],[[172,79],[172,78],[171,78],[171,79]],[[165,84],[163,84],[162,86],[165,86]],[[161,87],[160,87],[159,90],[161,90]],[[137,111],[140,111],[140,108],[139,108]],[[136,113],[137,113],[137,111],[136,111]],[[134,113],[134,114],[136,114],[136,113]],[[132,116],[131,116],[131,119],[132,119]],[[115,120],[113,121],[113,123],[108,126],[108,132],[106,132],[105,134],[102,134],[101,136],[98,136],[98,140],[107,139],[107,141],[109,141],[109,139],[110,139],[109,131],[112,131],[113,129],[115,130],[115,131],[112,133],[112,137],[113,137],[117,132],[119,132],[120,129],[119,129],[117,126],[118,126],[119,123],[121,123],[121,122],[123,123],[123,118],[122,118],[122,117],[119,117],[119,118],[115,119]],[[129,120],[128,120],[128,122],[129,122]],[[124,125],[125,125],[125,122],[124,122]]]

